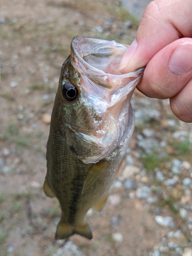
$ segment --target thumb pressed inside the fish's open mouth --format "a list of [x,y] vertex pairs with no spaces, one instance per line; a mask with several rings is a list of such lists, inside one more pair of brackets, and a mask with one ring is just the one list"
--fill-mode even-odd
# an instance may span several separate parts
[[121,73],[145,67],[166,45],[183,36],[191,37],[191,11],[191,0],[152,1],[142,16],[136,39],[120,62]]

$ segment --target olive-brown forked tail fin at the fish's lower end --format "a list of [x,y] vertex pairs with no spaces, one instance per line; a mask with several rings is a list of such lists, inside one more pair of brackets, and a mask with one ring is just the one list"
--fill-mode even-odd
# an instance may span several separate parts
[[88,239],[92,239],[92,231],[86,222],[81,222],[79,225],[72,226],[68,223],[59,222],[57,226],[57,231],[55,234],[55,239],[65,239],[72,234],[80,234],[80,236]]

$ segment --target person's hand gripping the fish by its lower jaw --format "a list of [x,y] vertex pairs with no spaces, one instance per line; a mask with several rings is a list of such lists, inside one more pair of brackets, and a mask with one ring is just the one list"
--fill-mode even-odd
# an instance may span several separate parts
[[119,70],[145,66],[138,90],[148,97],[169,98],[173,113],[192,122],[191,0],[154,0],[147,6]]

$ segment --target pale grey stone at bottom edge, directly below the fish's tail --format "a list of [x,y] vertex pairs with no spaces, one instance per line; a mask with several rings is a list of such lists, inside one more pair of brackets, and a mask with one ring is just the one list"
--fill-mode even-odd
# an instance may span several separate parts
[[72,242],[67,242],[62,248],[59,248],[53,256],[85,256],[78,247]]

